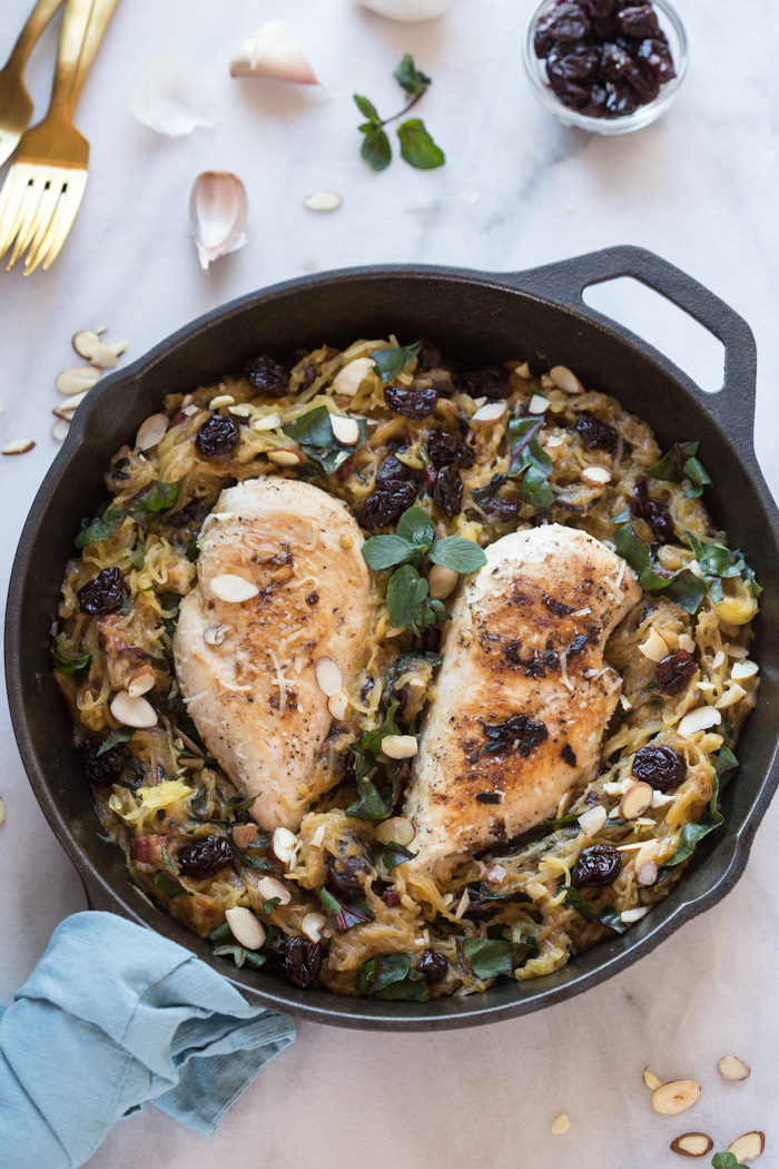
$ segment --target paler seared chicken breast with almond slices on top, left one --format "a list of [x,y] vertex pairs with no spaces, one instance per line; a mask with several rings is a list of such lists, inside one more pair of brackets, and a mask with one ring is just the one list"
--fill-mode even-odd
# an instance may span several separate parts
[[[343,685],[362,663],[368,570],[346,505],[308,483],[249,479],[223,491],[200,535],[197,586],[174,637],[176,675],[203,742],[267,830],[297,829],[332,718],[315,663]],[[229,601],[223,577],[257,589]],[[222,577],[222,580],[221,580]],[[222,594],[222,595],[220,595]]]

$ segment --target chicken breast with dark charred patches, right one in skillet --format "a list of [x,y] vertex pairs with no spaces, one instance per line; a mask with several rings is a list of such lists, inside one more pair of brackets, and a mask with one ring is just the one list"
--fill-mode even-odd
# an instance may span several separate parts
[[458,597],[406,816],[415,865],[486,848],[555,812],[597,773],[621,680],[603,665],[640,599],[627,563],[586,532],[505,535]]

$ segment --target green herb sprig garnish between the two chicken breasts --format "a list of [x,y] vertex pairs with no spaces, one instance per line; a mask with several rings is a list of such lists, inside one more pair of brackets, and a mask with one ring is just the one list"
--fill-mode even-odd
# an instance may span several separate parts
[[395,628],[406,627],[415,634],[444,621],[443,601],[433,601],[423,572],[427,561],[452,568],[455,573],[474,573],[487,563],[474,540],[457,535],[436,537],[436,524],[422,507],[409,507],[397,524],[395,535],[374,535],[362,546],[369,568],[382,572],[394,568],[387,584],[387,611]]

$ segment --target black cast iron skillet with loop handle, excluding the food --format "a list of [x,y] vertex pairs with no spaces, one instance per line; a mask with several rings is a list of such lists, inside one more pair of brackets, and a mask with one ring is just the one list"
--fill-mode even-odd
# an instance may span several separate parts
[[[723,341],[725,376],[718,394],[703,393],[645,341],[583,304],[589,284],[624,275],[681,305]],[[149,908],[133,891],[119,850],[97,835],[91,790],[72,748],[47,637],[78,521],[105,498],[103,472],[111,455],[159,410],[164,394],[216,381],[262,351],[283,357],[325,340],[343,346],[355,337],[389,332],[404,343],[420,336],[434,339],[445,354],[464,362],[526,358],[536,368],[570,366],[586,386],[614,394],[646,419],[663,448],[676,440],[700,440],[715,480],[707,503],[728,530],[731,546],[749,553],[758,579],[768,586],[756,630],[763,682],[738,747],[742,769],[725,795],[725,824],[707,837],[670,895],[627,934],[587,950],[556,974],[426,1004],[304,991],[272,971],[232,971],[211,957],[207,941]],[[342,1026],[436,1030],[492,1023],[570,998],[635,962],[718,901],[744,871],[779,780],[771,717],[779,652],[766,636],[779,620],[779,525],[752,449],[754,375],[754,341],[740,317],[652,253],[611,248],[519,274],[392,265],[290,281],[201,317],[106,378],[78,410],[33,504],[11,577],[6,623],[6,672],[19,748],[90,905],[160,931],[222,974],[232,971],[232,982],[267,1007]]]

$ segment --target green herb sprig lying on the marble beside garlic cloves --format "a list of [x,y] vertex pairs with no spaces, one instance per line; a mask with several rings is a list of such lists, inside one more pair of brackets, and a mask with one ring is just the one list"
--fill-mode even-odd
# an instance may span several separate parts
[[[392,147],[384,126],[409,113],[432,84],[430,77],[423,74],[413,63],[413,57],[406,53],[394,75],[401,89],[410,97],[410,102],[391,118],[382,118],[376,106],[361,94],[354,94],[354,101],[366,122],[357,127],[363,134],[360,153],[374,171],[384,171],[392,161]],[[401,157],[419,171],[432,171],[443,166],[446,157],[427,133],[422,118],[409,118],[397,127],[401,143]]]

